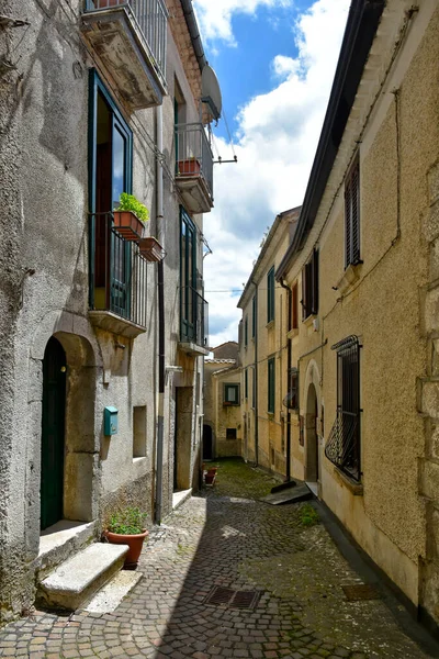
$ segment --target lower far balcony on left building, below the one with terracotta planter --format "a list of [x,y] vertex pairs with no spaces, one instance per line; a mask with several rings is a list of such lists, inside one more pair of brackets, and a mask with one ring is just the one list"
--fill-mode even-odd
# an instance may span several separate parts
[[206,356],[209,337],[209,304],[191,286],[181,289],[180,349],[198,356]]

